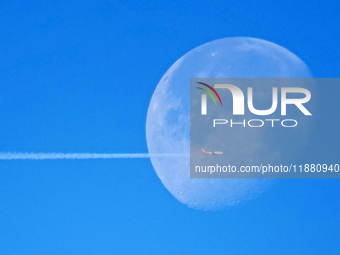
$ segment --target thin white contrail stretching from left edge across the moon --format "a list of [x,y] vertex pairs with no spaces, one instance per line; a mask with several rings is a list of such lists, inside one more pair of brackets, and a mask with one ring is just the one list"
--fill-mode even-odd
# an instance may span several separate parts
[[150,157],[185,157],[187,154],[149,154],[149,153],[16,153],[0,152],[0,160],[43,160],[43,159],[124,159]]

